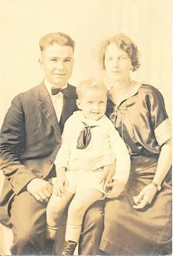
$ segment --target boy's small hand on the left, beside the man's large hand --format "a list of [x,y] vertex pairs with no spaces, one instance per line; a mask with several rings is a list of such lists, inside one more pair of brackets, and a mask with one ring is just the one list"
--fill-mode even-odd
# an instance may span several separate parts
[[65,190],[65,186],[68,185],[68,180],[66,179],[66,175],[65,175],[65,168],[59,168],[56,169],[56,180],[55,180],[55,184],[53,185],[53,193],[56,196],[61,196],[61,194],[63,193],[63,191]]

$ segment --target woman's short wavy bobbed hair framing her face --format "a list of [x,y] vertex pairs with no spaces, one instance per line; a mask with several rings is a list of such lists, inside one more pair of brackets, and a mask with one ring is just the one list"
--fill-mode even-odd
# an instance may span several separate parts
[[105,69],[105,50],[107,49],[107,46],[112,43],[116,44],[118,48],[120,48],[129,55],[133,66],[132,71],[136,71],[140,67],[140,53],[137,49],[137,46],[133,43],[133,41],[128,36],[126,36],[126,34],[123,33],[118,33],[112,37],[109,37],[108,39],[102,41],[102,43],[100,44],[100,47],[97,52],[97,58],[98,64],[101,67],[101,69]]

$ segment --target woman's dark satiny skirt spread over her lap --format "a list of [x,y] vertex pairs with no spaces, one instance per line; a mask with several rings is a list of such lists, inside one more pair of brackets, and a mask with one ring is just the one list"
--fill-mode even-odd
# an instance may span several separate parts
[[[147,170],[145,171],[148,174]],[[164,182],[161,193],[158,193],[155,200],[144,210],[136,210],[132,207],[133,196],[136,196],[150,181],[150,175],[133,177],[118,199],[107,201],[100,246],[102,251],[118,255],[147,254],[169,243],[171,185]]]

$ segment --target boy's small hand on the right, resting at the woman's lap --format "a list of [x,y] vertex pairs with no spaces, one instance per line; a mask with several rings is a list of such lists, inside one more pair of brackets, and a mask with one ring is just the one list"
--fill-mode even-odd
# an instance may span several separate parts
[[[114,180],[113,183],[107,185],[107,198],[115,199],[118,197],[125,187],[125,183],[123,181]],[[110,191],[109,191],[110,190]]]

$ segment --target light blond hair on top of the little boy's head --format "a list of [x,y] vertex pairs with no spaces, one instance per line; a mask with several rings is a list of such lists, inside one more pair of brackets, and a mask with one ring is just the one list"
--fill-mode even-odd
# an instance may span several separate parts
[[104,85],[104,82],[100,79],[94,79],[89,78],[85,79],[76,88],[76,93],[78,95],[78,98],[81,97],[81,95],[85,95],[86,91],[104,91],[107,95],[107,88]]

